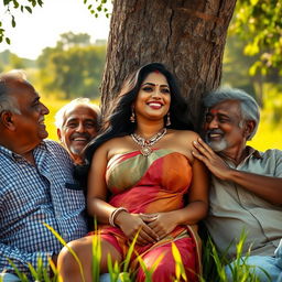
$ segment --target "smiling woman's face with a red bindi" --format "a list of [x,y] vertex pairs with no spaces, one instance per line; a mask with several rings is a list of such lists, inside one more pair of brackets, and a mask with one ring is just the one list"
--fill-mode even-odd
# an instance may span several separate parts
[[163,119],[171,105],[171,89],[164,75],[159,72],[151,73],[141,84],[134,111],[137,121],[141,119]]

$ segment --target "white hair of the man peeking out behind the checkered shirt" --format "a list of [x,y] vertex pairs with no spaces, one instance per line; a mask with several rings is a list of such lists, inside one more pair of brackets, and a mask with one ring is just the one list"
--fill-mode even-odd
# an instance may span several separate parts
[[74,107],[77,105],[84,105],[87,106],[88,108],[93,109],[94,112],[97,115],[97,126],[100,123],[100,116],[101,111],[100,108],[97,105],[94,105],[89,98],[76,98],[72,100],[70,102],[66,104],[64,107],[62,107],[55,115],[55,126],[58,129],[62,129],[65,122],[65,116],[67,112],[67,109],[69,107]]

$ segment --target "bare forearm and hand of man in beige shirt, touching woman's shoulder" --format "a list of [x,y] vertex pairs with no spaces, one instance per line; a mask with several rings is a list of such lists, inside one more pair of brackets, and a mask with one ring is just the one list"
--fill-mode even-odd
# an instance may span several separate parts
[[232,181],[249,192],[275,205],[282,205],[282,178],[248,173],[229,167],[202,139],[194,142],[193,155],[223,181]]

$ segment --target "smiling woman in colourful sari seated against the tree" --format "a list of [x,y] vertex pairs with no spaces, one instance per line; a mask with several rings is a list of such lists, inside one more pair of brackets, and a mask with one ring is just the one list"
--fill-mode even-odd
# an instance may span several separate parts
[[[163,254],[152,281],[175,278],[172,242],[187,280],[198,281],[199,246],[193,226],[207,214],[208,180],[203,163],[192,155],[198,134],[188,130],[185,110],[172,74],[162,64],[145,65],[126,80],[102,133],[88,144],[87,206],[100,224],[102,273],[108,272],[108,253],[121,263],[139,231],[134,250],[148,269]],[[68,245],[82,261],[85,281],[93,281],[93,236],[96,232]],[[135,281],[144,281],[135,252],[131,267]],[[58,269],[63,281],[82,281],[66,248]]]

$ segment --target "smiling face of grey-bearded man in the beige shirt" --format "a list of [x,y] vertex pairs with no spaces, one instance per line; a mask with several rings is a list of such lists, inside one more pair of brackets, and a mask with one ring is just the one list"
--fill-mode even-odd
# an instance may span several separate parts
[[226,100],[208,109],[204,130],[207,144],[216,152],[236,148],[245,142],[240,105]]

